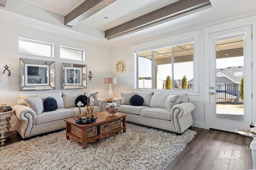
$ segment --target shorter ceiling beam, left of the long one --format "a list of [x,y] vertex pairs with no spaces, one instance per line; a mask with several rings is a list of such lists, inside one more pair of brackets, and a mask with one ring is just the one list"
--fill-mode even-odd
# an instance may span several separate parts
[[64,18],[64,25],[73,27],[116,0],[86,0]]

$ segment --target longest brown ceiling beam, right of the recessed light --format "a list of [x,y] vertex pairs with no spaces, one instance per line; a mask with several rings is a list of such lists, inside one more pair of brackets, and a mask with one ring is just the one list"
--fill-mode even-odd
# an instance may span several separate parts
[[135,31],[142,27],[172,18],[211,5],[210,0],[179,0],[168,6],[150,12],[144,16],[135,18],[114,28],[105,31],[105,38],[113,38],[125,33]]

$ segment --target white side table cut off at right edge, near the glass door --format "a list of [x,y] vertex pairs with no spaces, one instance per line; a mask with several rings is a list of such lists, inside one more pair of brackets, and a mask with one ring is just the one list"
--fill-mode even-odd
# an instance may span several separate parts
[[236,129],[236,132],[244,136],[253,137],[250,149],[252,150],[253,170],[256,170],[256,133],[246,129]]

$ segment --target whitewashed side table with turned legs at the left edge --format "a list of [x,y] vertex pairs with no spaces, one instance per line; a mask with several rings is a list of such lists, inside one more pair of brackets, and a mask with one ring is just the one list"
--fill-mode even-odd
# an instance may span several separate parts
[[[12,113],[14,113],[15,110],[10,110],[10,111],[5,111],[5,112],[0,112],[0,145],[4,145],[4,141],[6,140],[6,138],[10,137],[12,135],[12,131],[10,131],[10,119],[12,116]],[[6,123],[5,123],[6,121]],[[6,129],[7,131],[5,131],[4,129],[4,125],[6,124]],[[4,136],[6,135],[6,136]]]

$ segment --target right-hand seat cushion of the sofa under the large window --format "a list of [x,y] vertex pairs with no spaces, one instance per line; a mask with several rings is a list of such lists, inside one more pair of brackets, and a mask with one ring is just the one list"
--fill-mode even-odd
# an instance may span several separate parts
[[150,107],[150,108],[142,109],[140,111],[140,116],[163,119],[163,120],[171,120],[170,111],[164,108]]

